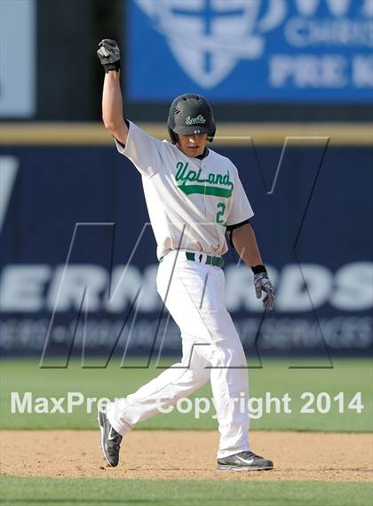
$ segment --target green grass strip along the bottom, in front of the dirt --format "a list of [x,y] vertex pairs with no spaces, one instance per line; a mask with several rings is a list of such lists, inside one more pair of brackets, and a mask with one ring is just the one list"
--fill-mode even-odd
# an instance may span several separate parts
[[320,481],[0,478],[3,504],[66,506],[369,506],[373,487]]

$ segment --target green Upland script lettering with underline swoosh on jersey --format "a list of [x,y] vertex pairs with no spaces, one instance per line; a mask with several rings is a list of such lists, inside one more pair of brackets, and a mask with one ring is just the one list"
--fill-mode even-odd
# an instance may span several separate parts
[[[229,171],[226,171],[226,174],[215,174],[210,173],[207,179],[201,178],[202,169],[198,172],[193,169],[188,170],[188,162],[183,164],[183,162],[178,162],[176,168],[178,172],[176,173],[175,180],[178,183],[181,181],[181,184],[178,184],[178,188],[181,189],[186,195],[191,195],[193,193],[200,193],[202,195],[213,195],[215,197],[226,197],[229,198],[232,196],[234,190],[234,183],[229,179]],[[202,183],[202,184],[190,184],[190,183]],[[227,188],[221,188],[215,185],[226,186]]]

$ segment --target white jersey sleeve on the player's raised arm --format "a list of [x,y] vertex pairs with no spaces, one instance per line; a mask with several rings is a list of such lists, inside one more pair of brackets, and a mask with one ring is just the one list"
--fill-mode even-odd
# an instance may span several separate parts
[[131,121],[127,142],[122,144],[115,139],[116,149],[131,160],[132,164],[143,176],[153,176],[162,166],[164,143],[148,135]]

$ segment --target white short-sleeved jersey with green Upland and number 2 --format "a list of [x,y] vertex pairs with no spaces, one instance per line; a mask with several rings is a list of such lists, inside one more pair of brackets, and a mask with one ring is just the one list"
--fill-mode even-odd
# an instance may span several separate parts
[[212,149],[188,157],[129,123],[125,146],[115,143],[141,173],[158,259],[176,249],[226,253],[226,227],[254,214],[237,168]]

